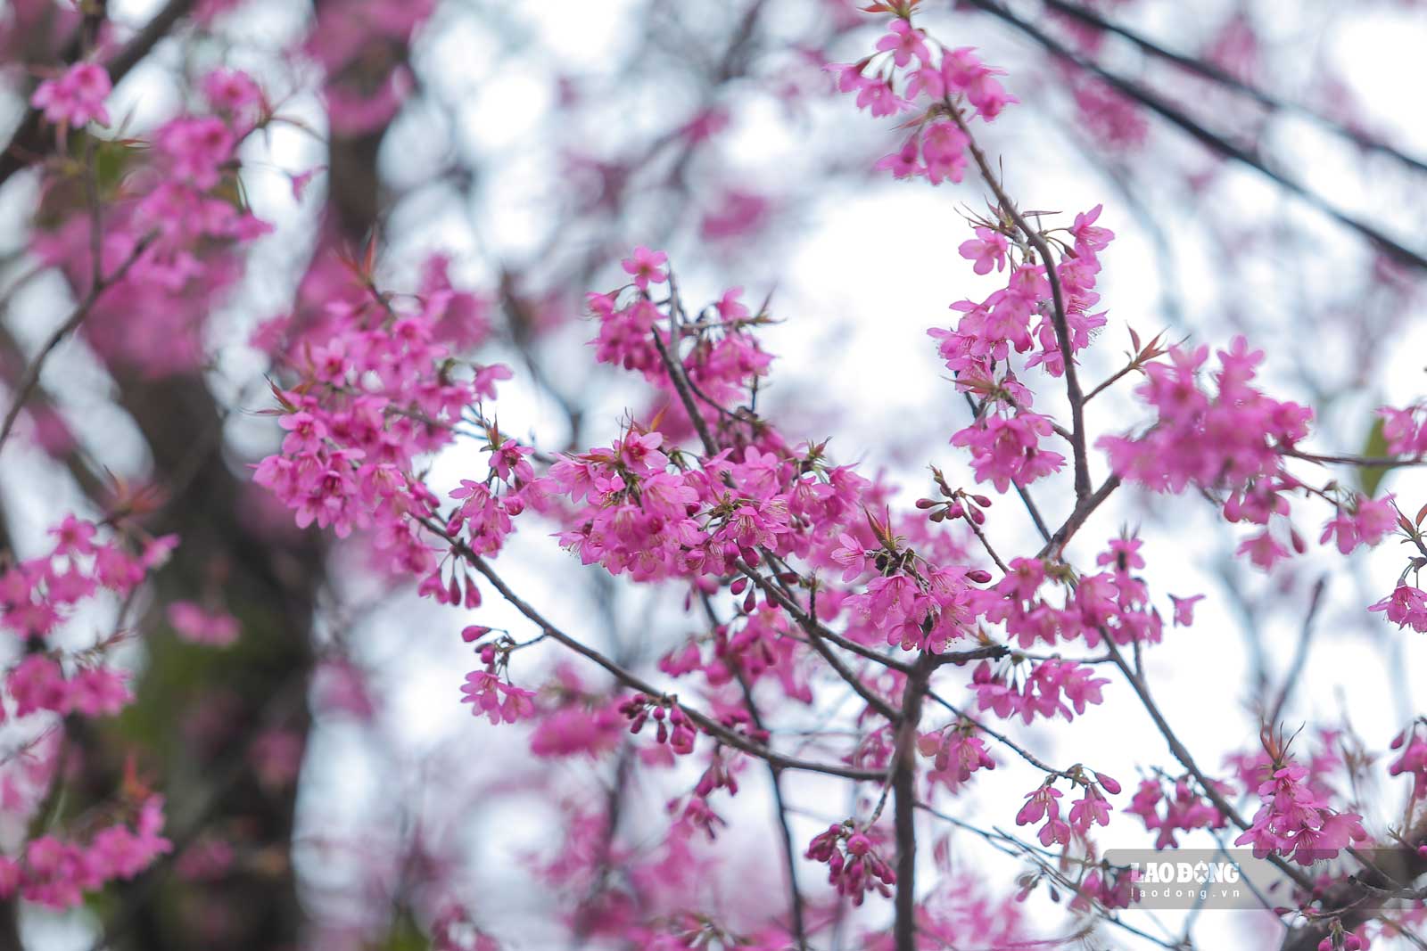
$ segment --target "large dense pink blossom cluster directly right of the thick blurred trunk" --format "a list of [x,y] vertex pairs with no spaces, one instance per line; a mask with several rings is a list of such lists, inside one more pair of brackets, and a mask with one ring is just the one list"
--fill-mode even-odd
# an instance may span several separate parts
[[[287,336],[303,382],[278,394],[287,436],[254,478],[295,512],[298,526],[315,522],[338,536],[370,530],[395,570],[431,579],[444,592],[435,557],[408,518],[437,510],[414,465],[451,443],[457,426],[471,422],[468,413],[492,399],[497,381],[511,372],[458,359],[458,346],[484,335],[484,308],[450,288],[440,262],[418,304],[404,309],[355,274],[338,287],[342,294],[323,319],[287,319],[267,331]],[[509,461],[507,441],[494,431],[491,441],[497,463]],[[507,472],[512,482],[528,472],[517,469]],[[472,545],[494,552],[519,505],[495,499],[488,485],[464,485],[457,498],[465,505],[451,528],[464,523]]]

